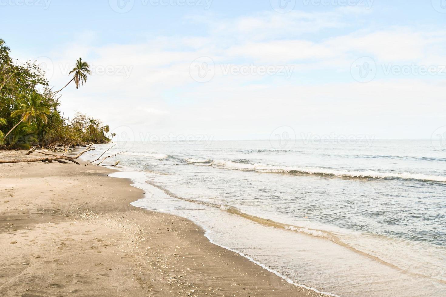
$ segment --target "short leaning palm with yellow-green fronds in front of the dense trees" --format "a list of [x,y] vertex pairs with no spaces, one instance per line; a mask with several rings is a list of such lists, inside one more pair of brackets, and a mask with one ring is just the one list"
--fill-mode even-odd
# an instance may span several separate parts
[[21,115],[21,120],[13,126],[11,130],[4,136],[3,139],[8,137],[9,133],[12,132],[21,122],[27,122],[30,124],[33,120],[40,118],[43,122],[47,122],[47,114],[50,114],[48,107],[42,104],[42,97],[37,92],[25,95],[20,100],[19,109],[12,112],[11,117],[17,117]]

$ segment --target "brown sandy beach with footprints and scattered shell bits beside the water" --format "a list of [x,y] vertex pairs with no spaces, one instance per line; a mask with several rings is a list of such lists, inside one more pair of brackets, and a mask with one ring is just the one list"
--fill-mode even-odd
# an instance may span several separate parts
[[111,172],[0,164],[0,296],[322,296],[211,244],[189,220],[131,206],[143,191]]

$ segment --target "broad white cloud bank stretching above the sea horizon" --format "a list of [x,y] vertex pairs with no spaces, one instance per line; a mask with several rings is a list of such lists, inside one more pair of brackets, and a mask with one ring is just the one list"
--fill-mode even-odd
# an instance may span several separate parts
[[[194,20],[208,26],[204,37],[157,37],[100,47],[67,45],[48,53],[55,65],[51,82],[64,85],[68,77],[59,65],[72,68],[79,55],[95,67],[128,66],[127,78],[116,73],[93,75],[80,90],[70,85],[63,91],[62,109],[66,114],[69,110],[94,114],[111,127],[132,126],[153,134],[268,138],[275,128],[287,125],[318,134],[430,137],[444,124],[439,111],[446,107],[445,85],[434,77],[377,77],[361,84],[349,71],[362,56],[374,57],[377,63],[442,65],[443,32],[355,29],[346,21],[352,13],[356,10],[286,16],[268,12],[235,20],[203,16]],[[350,31],[331,38],[304,37],[335,26]],[[217,69],[213,80],[197,83],[189,67],[202,56],[212,57]],[[225,76],[218,69],[220,63],[294,65],[297,77],[307,82]]]

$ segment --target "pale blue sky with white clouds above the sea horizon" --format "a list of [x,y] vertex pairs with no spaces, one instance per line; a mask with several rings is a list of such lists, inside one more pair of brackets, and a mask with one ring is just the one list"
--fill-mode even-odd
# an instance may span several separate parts
[[[446,132],[445,0],[0,0],[0,38],[135,140]],[[445,134],[446,135],[446,134]]]

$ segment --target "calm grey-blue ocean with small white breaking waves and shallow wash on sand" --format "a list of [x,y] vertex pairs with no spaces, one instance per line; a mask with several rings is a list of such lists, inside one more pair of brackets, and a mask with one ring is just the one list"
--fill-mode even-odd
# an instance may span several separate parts
[[[114,145],[114,146],[113,146]],[[430,139],[117,142],[132,203],[332,296],[445,296],[446,146]],[[278,283],[275,288],[281,289]]]

